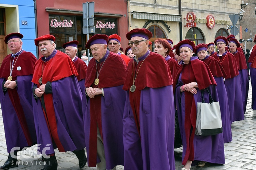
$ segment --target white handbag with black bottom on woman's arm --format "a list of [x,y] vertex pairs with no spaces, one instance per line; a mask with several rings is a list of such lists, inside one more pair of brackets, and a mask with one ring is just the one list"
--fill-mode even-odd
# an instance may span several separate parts
[[197,120],[196,120],[196,135],[208,136],[222,133],[222,120],[221,120],[221,109],[219,102],[214,102],[210,91],[206,88],[210,103],[205,103],[203,93],[201,90],[202,102],[197,103]]

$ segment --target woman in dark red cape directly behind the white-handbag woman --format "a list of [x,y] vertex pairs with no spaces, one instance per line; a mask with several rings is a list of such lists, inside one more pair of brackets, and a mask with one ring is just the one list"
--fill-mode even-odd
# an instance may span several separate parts
[[222,118],[222,130],[224,143],[232,141],[232,132],[230,125],[230,114],[228,107],[228,96],[223,79],[226,77],[226,73],[215,58],[211,57],[207,53],[207,45],[199,44],[196,46],[196,53],[199,60],[202,60],[210,68],[213,78],[217,83],[217,92],[219,97],[219,105],[221,107]]

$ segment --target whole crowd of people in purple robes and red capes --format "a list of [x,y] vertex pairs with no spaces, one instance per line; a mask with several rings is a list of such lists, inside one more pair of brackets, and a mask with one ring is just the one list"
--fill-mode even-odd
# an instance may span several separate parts
[[[182,170],[225,164],[224,143],[232,141],[232,122],[244,119],[250,78],[256,109],[256,45],[246,57],[249,50],[233,35],[197,46],[157,38],[152,52],[152,33],[133,29],[123,52],[120,36],[96,34],[85,46],[89,62],[85,50],[76,56],[76,40],[64,43],[63,53],[53,35],[34,39],[42,54],[37,60],[23,50],[22,38],[11,33],[4,39],[12,52],[0,68],[9,155],[0,170],[18,167],[17,152],[35,144],[42,170],[57,170],[55,149],[73,152],[81,169],[88,160],[98,170],[174,170],[177,129]],[[219,102],[223,132],[197,135],[198,103],[211,100]]]

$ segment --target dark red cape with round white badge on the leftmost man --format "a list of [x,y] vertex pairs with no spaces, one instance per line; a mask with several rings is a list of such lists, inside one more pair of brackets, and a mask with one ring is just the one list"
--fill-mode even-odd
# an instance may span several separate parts
[[[20,53],[18,59],[18,56],[14,58],[14,63],[17,60],[17,62],[14,65],[13,71],[12,71],[12,77],[15,78],[17,76],[22,76],[22,75],[31,75],[33,73],[33,68],[32,67],[27,67],[27,66],[33,66],[35,62],[37,61],[37,58],[31,53],[31,52],[26,52],[23,51]],[[11,54],[7,55],[3,59],[3,63],[0,68],[0,78],[7,78],[10,76],[10,61],[11,61]],[[12,57],[13,61],[13,57]],[[17,70],[17,67],[21,67],[21,70]]]

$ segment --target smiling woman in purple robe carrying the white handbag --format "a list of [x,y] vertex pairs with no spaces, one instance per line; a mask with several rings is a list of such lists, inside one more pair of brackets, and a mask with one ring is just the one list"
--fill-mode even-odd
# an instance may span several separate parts
[[189,170],[192,161],[200,161],[197,166],[203,167],[206,162],[225,163],[223,134],[200,136],[195,135],[197,103],[209,102],[208,88],[214,101],[218,101],[216,82],[204,62],[193,57],[194,42],[186,39],[176,45],[176,53],[182,57],[174,80],[176,107],[183,143],[182,170]]

